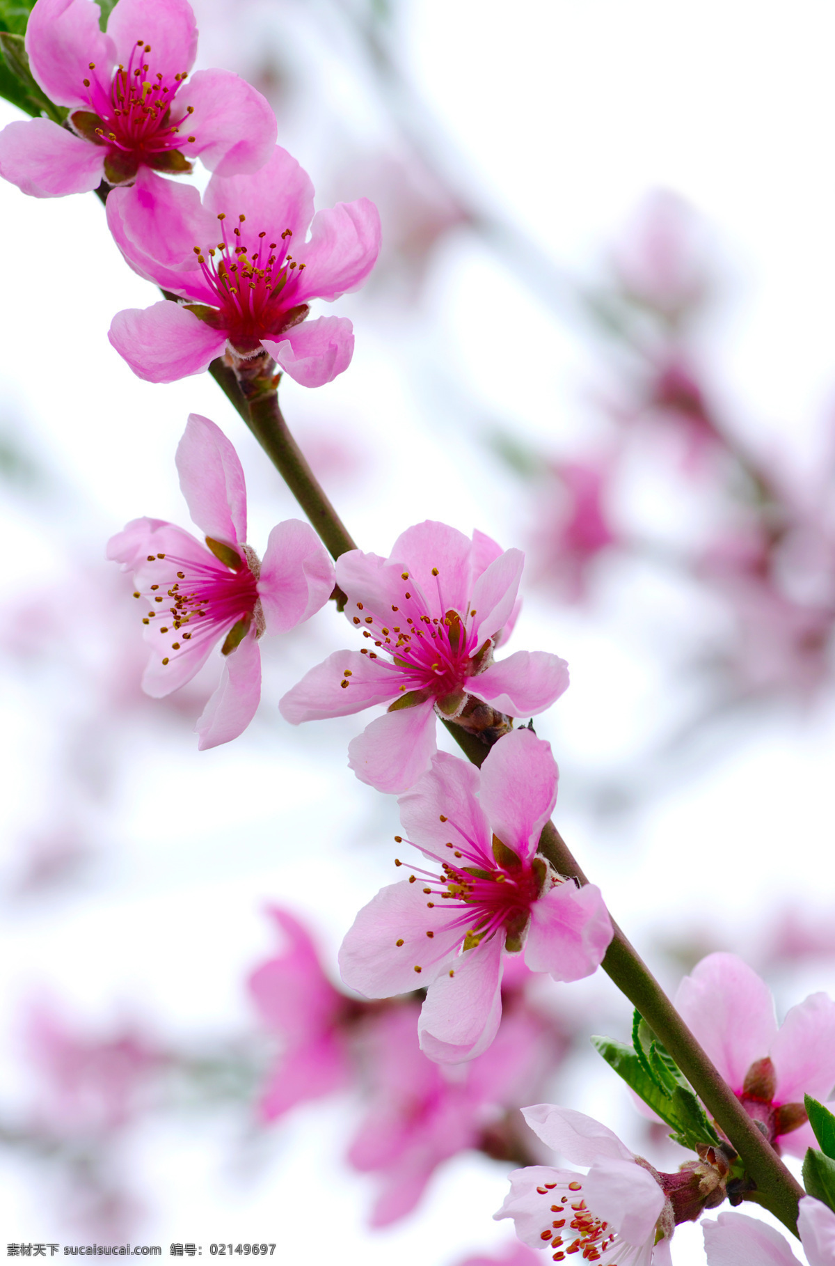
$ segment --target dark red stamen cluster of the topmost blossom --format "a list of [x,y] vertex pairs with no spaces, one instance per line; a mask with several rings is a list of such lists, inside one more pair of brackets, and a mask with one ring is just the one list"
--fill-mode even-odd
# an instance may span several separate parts
[[[194,108],[175,119],[177,89],[187,77],[186,71],[166,77],[153,72],[145,61],[151,44],[138,39],[127,66],[119,66],[108,92],[97,80],[84,80],[90,110],[76,110],[72,124],[81,135],[110,148],[108,179],[115,182],[135,176],[139,163],[161,171],[191,171],[191,163],[180,152],[195,137],[182,135],[181,125]],[[90,62],[95,70],[95,62]]]

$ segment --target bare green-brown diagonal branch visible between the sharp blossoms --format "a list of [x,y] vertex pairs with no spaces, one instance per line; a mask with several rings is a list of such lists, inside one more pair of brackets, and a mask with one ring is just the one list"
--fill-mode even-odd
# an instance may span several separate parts
[[[338,558],[347,549],[356,549],[353,539],[290,434],[278,408],[275,379],[268,380],[263,372],[247,377],[240,371],[237,373],[223,360],[214,361],[210,372],[283,476],[333,557]],[[481,766],[490,746],[454,722],[444,724],[467,758]],[[552,822],[543,829],[539,851],[560,875],[577,879],[581,884],[588,882]],[[803,1189],[714,1067],[638,951],[616,923],[614,928],[614,939],[602,961],[603,971],[667,1047],[719,1128],[739,1152],[746,1174],[757,1184],[757,1201],[770,1209],[797,1234],[797,1204],[805,1195]]]

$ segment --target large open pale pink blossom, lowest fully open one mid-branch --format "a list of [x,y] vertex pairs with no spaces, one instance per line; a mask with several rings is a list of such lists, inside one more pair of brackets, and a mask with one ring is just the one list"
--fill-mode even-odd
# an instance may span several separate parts
[[419,1033],[431,1060],[471,1060],[493,1041],[506,955],[524,952],[531,971],[579,980],[606,952],[612,928],[600,890],[560,879],[536,853],[555,800],[550,746],[519,729],[481,771],[438,752],[399,801],[409,842],[433,866],[415,867],[359,912],[339,967],[367,998],[428,986]]

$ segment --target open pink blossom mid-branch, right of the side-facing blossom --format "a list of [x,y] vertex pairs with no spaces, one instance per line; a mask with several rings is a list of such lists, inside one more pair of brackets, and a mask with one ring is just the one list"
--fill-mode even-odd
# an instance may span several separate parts
[[[525,562],[474,532],[444,523],[407,528],[388,558],[350,549],[337,561],[345,615],[371,641],[311,668],[278,706],[292,724],[390,704],[348,748],[357,777],[405,791],[431,761],[435,713],[461,718],[483,701],[511,717],[535,717],[568,686],[564,660],[517,651],[493,662],[512,625]],[[490,709],[485,709],[490,711]]]

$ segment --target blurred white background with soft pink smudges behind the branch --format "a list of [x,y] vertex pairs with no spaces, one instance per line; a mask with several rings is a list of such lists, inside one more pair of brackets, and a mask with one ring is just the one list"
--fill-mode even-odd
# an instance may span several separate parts
[[[512,644],[569,661],[536,729],[558,825],[614,914],[671,989],[724,948],[781,1014],[831,991],[831,5],[195,8],[197,65],[268,95],[319,205],[381,210],[380,265],[337,305],[350,370],[282,386],[354,537],[387,553],[436,518],[525,547]],[[434,1169],[443,1146],[418,1129],[431,1176],[382,1228],[386,1166],[345,1160],[374,1103],[364,1029],[343,1091],[263,1120],[282,1050],[248,987],[282,951],[267,905],[335,981],[392,877],[396,805],[345,763],[359,719],[296,730],[276,706],[350,633],[331,609],[264,643],[261,710],[228,747],[196,751],[209,671],[142,695],[104,546],[142,514],[187,522],[187,414],[238,447],[256,548],[294,505],[211,380],[152,386],[110,348],[113,314],[153,292],[92,196],[3,185],[0,216],[1,1234],[267,1241],[311,1266],[498,1253],[510,1165],[487,1152],[507,1104],[479,1103],[476,1147]],[[535,1096],[674,1169],[590,1047],[629,1032],[609,980],[525,1005],[553,1042]],[[396,1112],[425,1101],[401,1087]],[[696,1228],[673,1255],[703,1261]]]

